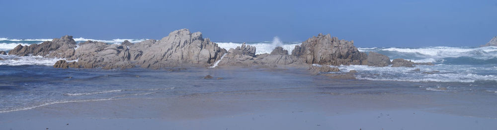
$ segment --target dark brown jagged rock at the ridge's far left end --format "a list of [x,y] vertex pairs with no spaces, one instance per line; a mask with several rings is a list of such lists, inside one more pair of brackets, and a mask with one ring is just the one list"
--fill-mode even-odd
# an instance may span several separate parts
[[63,36],[60,39],[45,41],[41,44],[31,44],[29,46],[17,45],[10,50],[9,55],[17,56],[43,56],[52,58],[70,58],[74,55],[76,41],[73,36]]

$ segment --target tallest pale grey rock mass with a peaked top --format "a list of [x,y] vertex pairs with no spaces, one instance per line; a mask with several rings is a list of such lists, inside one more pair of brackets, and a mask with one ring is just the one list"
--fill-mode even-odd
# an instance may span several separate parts
[[[250,48],[243,48],[249,51]],[[201,66],[212,65],[226,53],[202,33],[191,33],[188,29],[180,29],[169,33],[159,41],[146,40],[129,48],[130,60],[146,68],[161,68],[183,64]],[[255,49],[253,49],[255,54]]]

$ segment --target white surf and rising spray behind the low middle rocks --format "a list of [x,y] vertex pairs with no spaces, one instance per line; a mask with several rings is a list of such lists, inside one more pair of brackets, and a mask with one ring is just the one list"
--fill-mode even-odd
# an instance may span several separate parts
[[[223,42],[216,42],[219,47],[224,48],[226,50],[230,50],[230,48],[237,48],[238,46],[242,46],[242,43],[223,43]],[[282,47],[284,50],[288,50],[288,53],[291,53],[292,50],[295,48],[296,45],[300,45],[299,43],[295,44],[283,44],[281,40],[278,37],[274,37],[273,41],[271,43],[255,43],[255,44],[248,44],[250,46],[255,47],[255,54],[264,54],[264,53],[271,53],[274,48],[276,47]]]

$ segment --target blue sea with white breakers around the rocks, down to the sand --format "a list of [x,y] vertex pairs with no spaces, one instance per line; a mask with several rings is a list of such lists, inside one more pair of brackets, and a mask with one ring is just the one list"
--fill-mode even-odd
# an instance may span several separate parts
[[[0,38],[0,51],[18,44],[40,44],[51,39]],[[120,44],[145,39],[86,40]],[[229,50],[241,42],[215,42]],[[248,42],[256,54],[270,53],[281,46],[289,53],[301,42]],[[305,69],[256,68],[164,68],[131,69],[60,69],[52,65],[61,59],[0,55],[0,113],[38,107],[123,99],[159,99],[184,95],[230,92],[333,92],[338,94],[444,94],[465,93],[497,96],[497,47],[419,47],[358,48],[377,52],[391,60],[403,58],[435,65],[409,67],[373,67],[340,65],[341,72],[356,70],[358,80],[328,79],[309,75]],[[419,69],[419,71],[414,71]],[[223,79],[206,80],[205,75]],[[309,88],[309,86],[313,86]],[[318,94],[319,95],[319,94]],[[495,116],[495,115],[494,115]]]

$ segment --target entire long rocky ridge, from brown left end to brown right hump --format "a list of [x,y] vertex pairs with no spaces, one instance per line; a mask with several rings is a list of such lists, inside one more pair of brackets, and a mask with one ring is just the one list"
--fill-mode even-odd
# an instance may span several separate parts
[[[76,44],[72,36],[46,41],[30,46],[17,46],[9,52],[18,56],[43,56],[60,58],[54,67],[59,68],[163,68],[171,66],[267,66],[300,65],[365,65],[365,53],[358,52],[352,41],[338,40],[330,35],[318,35],[296,46],[292,55],[282,47],[271,54],[255,55],[256,48],[242,44],[226,51],[204,39],[202,33],[180,29],[161,40],[145,40],[133,44],[124,41],[120,45],[86,41]],[[224,57],[223,57],[224,56]],[[220,60],[223,57],[223,60]],[[67,60],[67,61],[66,61]],[[331,70],[330,70],[331,71]]]

